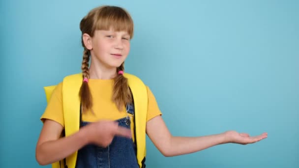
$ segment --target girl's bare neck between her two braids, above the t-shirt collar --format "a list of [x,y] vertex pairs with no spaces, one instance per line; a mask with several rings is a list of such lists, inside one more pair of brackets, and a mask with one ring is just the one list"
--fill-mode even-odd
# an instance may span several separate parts
[[116,67],[106,67],[100,63],[90,62],[90,79],[113,79],[117,76]]

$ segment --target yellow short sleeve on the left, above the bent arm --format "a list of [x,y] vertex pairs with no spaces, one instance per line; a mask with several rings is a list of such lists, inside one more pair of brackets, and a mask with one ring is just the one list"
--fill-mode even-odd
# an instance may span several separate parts
[[62,105],[62,83],[53,90],[45,112],[40,117],[44,122],[46,119],[54,120],[64,127],[63,105]]

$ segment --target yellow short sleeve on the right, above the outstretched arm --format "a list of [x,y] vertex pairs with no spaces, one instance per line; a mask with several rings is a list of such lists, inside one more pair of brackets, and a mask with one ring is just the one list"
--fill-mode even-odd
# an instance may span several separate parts
[[149,87],[147,86],[148,91],[148,113],[147,113],[147,121],[152,119],[155,116],[162,115],[158,104],[156,102],[156,99],[152,92],[150,91]]

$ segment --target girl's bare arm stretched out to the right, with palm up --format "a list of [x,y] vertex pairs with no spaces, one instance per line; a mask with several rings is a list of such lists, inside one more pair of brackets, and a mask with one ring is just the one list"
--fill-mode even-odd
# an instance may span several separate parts
[[247,144],[267,138],[267,133],[249,137],[235,131],[203,137],[173,137],[160,115],[147,122],[146,131],[149,139],[166,157],[193,153],[223,143]]

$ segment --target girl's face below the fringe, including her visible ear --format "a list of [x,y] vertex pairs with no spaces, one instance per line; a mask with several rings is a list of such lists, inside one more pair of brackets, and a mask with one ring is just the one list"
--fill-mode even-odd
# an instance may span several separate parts
[[106,68],[116,68],[126,59],[130,51],[130,35],[126,31],[96,30],[93,37],[88,34],[85,46],[90,50],[91,60]]

